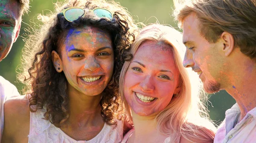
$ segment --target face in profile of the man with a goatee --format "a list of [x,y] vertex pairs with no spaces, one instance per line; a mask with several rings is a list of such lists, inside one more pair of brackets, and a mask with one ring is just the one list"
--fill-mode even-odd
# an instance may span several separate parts
[[201,36],[198,25],[195,14],[190,14],[183,22],[183,42],[186,45],[183,65],[198,73],[207,93],[218,92],[222,88],[221,79],[228,74],[220,74],[225,63],[217,47],[223,45],[209,43]]

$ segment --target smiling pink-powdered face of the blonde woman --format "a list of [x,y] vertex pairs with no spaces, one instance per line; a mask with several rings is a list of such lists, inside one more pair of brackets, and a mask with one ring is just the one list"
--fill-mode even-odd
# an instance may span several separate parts
[[[152,41],[143,43],[125,73],[124,96],[137,115],[157,115],[177,93],[179,73],[170,48]],[[141,95],[147,101],[141,101]]]

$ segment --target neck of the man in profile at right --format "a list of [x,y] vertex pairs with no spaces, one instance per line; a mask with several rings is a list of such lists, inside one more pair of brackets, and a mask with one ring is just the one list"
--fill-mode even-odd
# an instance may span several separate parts
[[256,107],[256,63],[248,57],[240,59],[241,63],[237,62],[237,65],[242,66],[232,69],[232,77],[228,79],[230,83],[225,90],[236,100],[242,119],[247,112]]

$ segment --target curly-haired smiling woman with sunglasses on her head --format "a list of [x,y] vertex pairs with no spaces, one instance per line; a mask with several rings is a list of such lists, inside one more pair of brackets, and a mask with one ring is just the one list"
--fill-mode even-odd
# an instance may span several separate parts
[[26,42],[26,96],[6,102],[2,141],[121,142],[120,55],[136,26],[115,2],[58,5],[56,13],[39,16],[44,24]]

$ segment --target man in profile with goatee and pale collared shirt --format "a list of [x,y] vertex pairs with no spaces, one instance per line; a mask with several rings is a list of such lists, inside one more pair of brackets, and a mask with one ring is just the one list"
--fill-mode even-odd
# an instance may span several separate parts
[[192,67],[207,93],[226,90],[236,104],[226,111],[215,143],[256,139],[256,0],[191,0],[175,17]]

